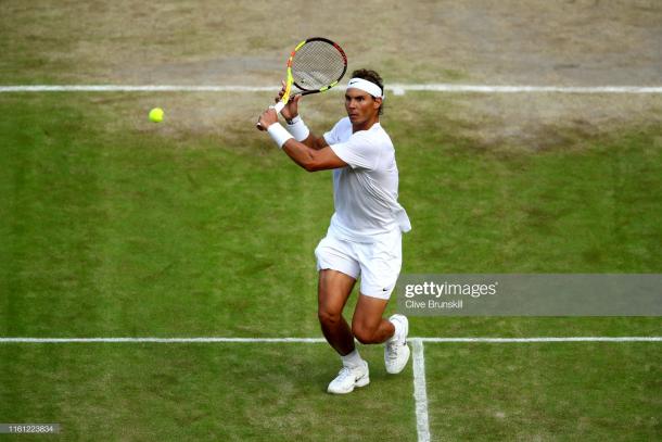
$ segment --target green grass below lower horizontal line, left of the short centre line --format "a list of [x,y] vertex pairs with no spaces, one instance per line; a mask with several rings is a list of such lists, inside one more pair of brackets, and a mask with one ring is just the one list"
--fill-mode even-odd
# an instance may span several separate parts
[[[12,382],[0,394],[12,406],[0,416],[59,422],[62,440],[415,441],[411,369],[393,377],[375,364],[379,387],[329,396],[338,368],[329,353],[323,344],[2,345]],[[378,349],[365,353],[375,358]]]

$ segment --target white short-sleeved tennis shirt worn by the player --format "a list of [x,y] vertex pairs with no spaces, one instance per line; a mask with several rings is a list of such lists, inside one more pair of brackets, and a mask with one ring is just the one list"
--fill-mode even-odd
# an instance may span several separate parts
[[330,230],[342,239],[371,242],[374,236],[411,230],[397,202],[398,173],[393,142],[379,123],[352,132],[342,118],[324,134],[333,152],[348,165],[333,169],[335,213]]

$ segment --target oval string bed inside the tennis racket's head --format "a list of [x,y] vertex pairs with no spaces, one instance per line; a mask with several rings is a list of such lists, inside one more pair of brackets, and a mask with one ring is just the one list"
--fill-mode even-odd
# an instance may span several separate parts
[[339,80],[345,72],[345,59],[326,41],[310,41],[296,51],[292,76],[303,90],[316,90]]

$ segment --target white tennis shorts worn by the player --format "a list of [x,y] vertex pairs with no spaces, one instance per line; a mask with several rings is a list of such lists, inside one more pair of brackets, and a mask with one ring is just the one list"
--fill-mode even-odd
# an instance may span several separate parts
[[362,294],[390,299],[403,265],[403,233],[395,230],[374,237],[372,242],[353,242],[331,230],[315,249],[317,270],[338,270],[354,279],[360,276]]

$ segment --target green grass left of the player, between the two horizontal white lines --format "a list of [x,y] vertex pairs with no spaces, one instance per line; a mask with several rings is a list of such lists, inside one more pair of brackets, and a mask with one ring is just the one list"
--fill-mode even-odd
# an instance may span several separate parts
[[[50,100],[3,122],[12,137],[1,178],[3,307],[7,317],[28,315],[2,324],[4,333],[170,333],[175,312],[181,332],[259,333],[289,293],[308,295],[283,319],[313,307],[313,249],[328,205],[282,224],[308,193],[305,174],[269,164],[273,154],[242,156],[209,141],[189,149],[99,132],[107,115],[44,112],[60,97]],[[311,200],[330,202],[326,190]],[[47,317],[29,308],[33,296],[49,303]],[[233,319],[237,311],[251,320]],[[89,321],[74,320],[82,314]]]

